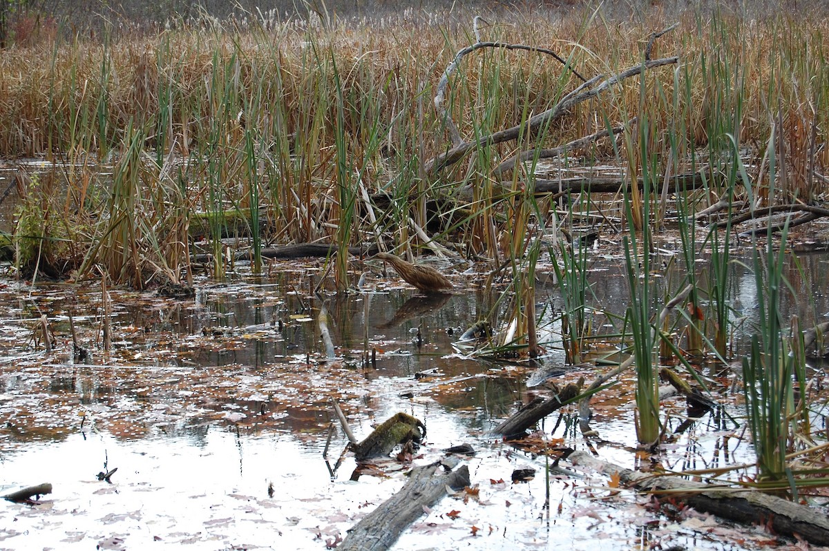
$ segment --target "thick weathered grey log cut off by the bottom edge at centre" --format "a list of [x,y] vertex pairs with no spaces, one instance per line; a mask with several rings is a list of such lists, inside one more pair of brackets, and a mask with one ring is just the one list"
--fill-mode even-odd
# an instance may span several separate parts
[[371,511],[348,531],[345,541],[337,549],[341,551],[381,551],[389,549],[409,524],[424,514],[444,495],[447,488],[453,491],[469,486],[469,469],[466,465],[444,473],[458,464],[457,458],[443,463],[416,466],[409,480],[395,495]]

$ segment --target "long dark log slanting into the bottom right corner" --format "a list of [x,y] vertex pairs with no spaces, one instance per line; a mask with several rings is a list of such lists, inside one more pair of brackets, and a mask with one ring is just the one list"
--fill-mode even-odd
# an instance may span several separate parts
[[764,524],[776,534],[795,535],[814,545],[829,545],[829,519],[825,512],[806,505],[764,494],[760,491],[734,490],[683,480],[677,476],[653,476],[604,462],[588,452],[573,452],[568,457],[578,466],[607,474],[618,473],[619,481],[643,492],[658,492],[657,498],[682,500],[696,510],[724,519],[748,524]]

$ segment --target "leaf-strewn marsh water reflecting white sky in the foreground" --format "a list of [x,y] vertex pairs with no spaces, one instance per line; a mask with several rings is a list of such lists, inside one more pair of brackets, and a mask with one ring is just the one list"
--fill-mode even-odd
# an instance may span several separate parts
[[[829,312],[827,262],[803,255],[788,270],[797,294],[811,297],[798,305],[803,319]],[[424,297],[378,269],[363,292],[313,294],[308,274],[322,268],[322,261],[278,261],[270,275],[255,277],[240,266],[227,283],[199,278],[187,300],[109,289],[109,355],[101,349],[99,284],[3,282],[0,492],[41,482],[54,492],[39,505],[0,502],[0,549],[331,548],[404,484],[411,463],[433,462],[461,443],[476,450],[465,461],[477,493],[424,512],[395,549],[594,549],[597,539],[602,549],[755,549],[772,537],[708,515],[671,514],[613,491],[600,473],[554,472],[548,481],[550,460],[537,453],[573,447],[622,466],[677,471],[751,462],[727,382],[723,408],[653,455],[636,451],[633,375],[592,401],[599,437],[582,437],[565,408],[542,425],[535,450],[521,449],[489,431],[520,404],[550,394],[526,385],[538,365],[476,358],[457,345],[468,326],[492,319],[497,286],[506,283],[484,289],[484,271],[444,263],[463,291]],[[733,269],[734,307],[749,326],[758,306],[754,280],[743,280],[752,271]],[[618,256],[597,251],[591,280],[605,308],[623,309]],[[565,366],[557,288],[538,283],[536,300],[545,312],[542,364],[560,366],[560,381],[592,379],[595,367]],[[37,338],[42,314],[56,336],[50,352]],[[82,363],[72,353],[70,314],[90,350]],[[726,379],[737,377],[726,371]],[[358,437],[400,411],[424,421],[427,437],[411,462],[392,454],[356,471],[346,454],[337,464],[347,441],[337,426],[328,442],[332,398]],[[676,427],[684,400],[665,407],[667,425]],[[96,477],[116,468],[109,482]],[[536,476],[511,480],[526,468]]]

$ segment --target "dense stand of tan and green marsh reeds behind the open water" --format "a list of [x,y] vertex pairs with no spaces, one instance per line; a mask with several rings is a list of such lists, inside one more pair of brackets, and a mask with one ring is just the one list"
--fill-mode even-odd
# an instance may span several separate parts
[[[550,49],[591,78],[641,63],[648,36],[676,15],[679,26],[654,42],[652,57],[679,62],[624,80],[517,145],[480,148],[433,176],[424,177],[424,164],[448,147],[432,103],[435,86],[475,37],[471,21],[413,9],[386,20],[335,21],[314,12],[288,22],[202,19],[149,33],[63,40],[51,32],[12,44],[0,58],[0,154],[59,161],[68,191],[53,208],[76,217],[70,225],[86,231],[72,239],[95,251],[81,265],[88,271],[109,250],[120,260],[106,267],[133,283],[148,272],[182,275],[175,259],[198,213],[212,221],[218,259],[230,211],[257,227],[264,216],[268,234],[254,232],[255,240],[330,239],[342,247],[381,240],[407,249],[424,241],[426,199],[458,191],[472,191],[473,209],[439,213],[456,221],[444,222],[435,239],[460,231],[455,243],[478,253],[521,254],[533,214],[504,199],[492,169],[516,147],[560,145],[634,117],[638,123],[615,142],[570,154],[654,179],[701,167],[733,172],[739,157],[759,186],[768,186],[773,163],[787,201],[819,199],[829,162],[822,147],[829,19],[756,18],[725,8],[688,8],[669,19],[658,6],[647,9],[627,19],[587,7],[555,17],[531,10],[488,16],[482,40]],[[448,112],[463,139],[472,139],[526,121],[579,84],[549,56],[481,50],[450,79]],[[93,161],[115,163],[116,186],[130,186],[124,193],[136,194],[138,206],[105,207],[102,190],[111,183]],[[526,188],[516,176],[511,189],[507,198]],[[380,215],[365,208],[378,192],[390,197]],[[705,197],[717,195],[710,189]],[[134,216],[131,229],[114,236],[124,219],[93,223],[90,213],[102,209]],[[458,212],[467,216],[460,223]],[[221,260],[215,268],[221,275]],[[338,266],[338,278],[344,269]]]

